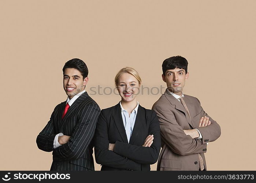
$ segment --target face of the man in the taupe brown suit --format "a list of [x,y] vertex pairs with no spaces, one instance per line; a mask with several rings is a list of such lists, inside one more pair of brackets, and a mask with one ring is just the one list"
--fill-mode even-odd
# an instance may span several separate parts
[[188,79],[189,73],[185,73],[184,69],[175,68],[169,69],[162,74],[163,81],[166,82],[168,89],[179,96],[182,96],[182,90],[185,86],[185,81]]

